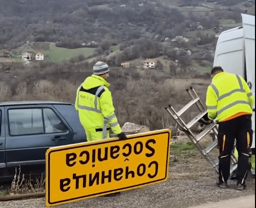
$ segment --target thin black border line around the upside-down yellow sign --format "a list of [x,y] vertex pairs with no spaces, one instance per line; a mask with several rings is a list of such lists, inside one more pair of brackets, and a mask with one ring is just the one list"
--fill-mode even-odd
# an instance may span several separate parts
[[[146,134],[145,136],[152,136],[152,135],[158,135],[158,134],[163,134],[163,133],[168,133],[168,144],[170,144],[170,131],[162,131],[162,132],[156,132],[156,133],[152,133],[152,134]],[[124,141],[127,141],[127,140],[131,140],[133,138],[138,138],[138,137],[141,137],[143,135],[136,135],[136,136],[129,136],[126,140],[106,140],[105,142],[102,142],[100,144],[108,144],[108,143],[112,143],[112,142],[117,142],[117,141],[120,141],[120,142],[124,142]],[[168,145],[168,150],[167,150],[167,155],[166,155],[166,171],[165,171],[165,177],[163,179],[159,179],[159,180],[156,180],[156,181],[151,181],[151,182],[148,182],[148,183],[143,183],[143,184],[137,184],[135,186],[128,186],[128,187],[125,187],[125,188],[121,188],[121,189],[115,189],[115,190],[111,190],[111,191],[105,191],[105,192],[100,192],[100,193],[97,193],[97,194],[90,194],[90,195],[84,195],[84,196],[79,196],[79,197],[75,197],[75,198],[70,198],[70,199],[66,199],[66,200],[61,200],[61,201],[55,201],[55,202],[50,202],[50,154],[53,153],[53,152],[60,152],[60,151],[63,151],[63,150],[70,150],[70,149],[76,149],[76,148],[82,148],[82,147],[90,147],[90,146],[95,146],[95,145],[98,145],[99,143],[86,143],[85,145],[82,145],[82,146],[79,146],[79,147],[67,147],[67,148],[64,148],[62,150],[51,150],[49,151],[48,153],[48,203],[49,204],[58,204],[58,203],[62,203],[62,202],[66,202],[66,201],[73,201],[73,200],[78,200],[80,198],[86,198],[86,197],[92,197],[92,196],[95,196],[95,195],[100,195],[100,194],[108,194],[110,192],[114,192],[114,191],[122,191],[122,190],[126,190],[126,189],[130,189],[130,188],[135,188],[135,187],[138,187],[138,186],[144,186],[144,185],[147,185],[147,184],[152,184],[152,183],[157,183],[159,181],[164,181],[165,179],[167,179],[168,177],[168,161],[169,161],[169,149],[170,149],[170,146]]]

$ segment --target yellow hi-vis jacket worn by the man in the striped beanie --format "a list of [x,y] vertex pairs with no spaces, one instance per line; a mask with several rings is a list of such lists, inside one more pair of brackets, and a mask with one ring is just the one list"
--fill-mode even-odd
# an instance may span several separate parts
[[107,128],[113,133],[122,132],[115,115],[110,84],[103,78],[92,75],[77,89],[75,109],[78,111],[81,125],[86,131],[96,132],[103,129],[104,119],[107,119]]

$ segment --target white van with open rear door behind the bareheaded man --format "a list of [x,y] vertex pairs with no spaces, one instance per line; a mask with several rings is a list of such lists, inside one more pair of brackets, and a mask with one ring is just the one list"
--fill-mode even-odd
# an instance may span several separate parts
[[[213,65],[221,66],[225,72],[241,75],[255,95],[255,17],[242,14],[242,18],[243,26],[220,34]],[[251,151],[255,155],[255,113],[252,116],[252,129]]]

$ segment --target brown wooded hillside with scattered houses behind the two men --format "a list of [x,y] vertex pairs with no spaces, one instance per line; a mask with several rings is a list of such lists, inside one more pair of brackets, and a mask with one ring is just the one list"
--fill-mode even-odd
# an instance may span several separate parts
[[[242,12],[255,13],[254,4],[231,6],[225,0],[0,3],[0,52],[13,55],[0,56],[1,101],[73,102],[74,91],[101,60],[111,67],[120,122],[151,129],[161,128],[164,105],[180,108],[188,101],[183,91],[192,83],[203,86],[198,90],[205,97],[216,35],[240,25]],[[43,52],[45,60],[20,64],[22,53],[31,50]],[[156,60],[155,70],[143,70],[147,58]],[[126,61],[131,67],[121,68]]]

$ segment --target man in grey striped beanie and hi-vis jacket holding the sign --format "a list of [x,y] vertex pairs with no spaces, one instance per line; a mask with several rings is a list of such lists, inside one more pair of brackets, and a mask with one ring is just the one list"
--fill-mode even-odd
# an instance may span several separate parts
[[108,77],[108,65],[99,61],[93,67],[93,75],[76,92],[75,108],[88,142],[109,138],[110,128],[120,139],[126,138],[115,115]]

